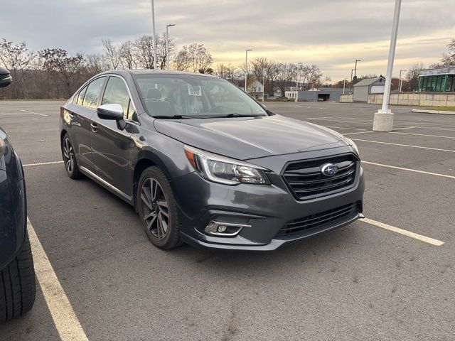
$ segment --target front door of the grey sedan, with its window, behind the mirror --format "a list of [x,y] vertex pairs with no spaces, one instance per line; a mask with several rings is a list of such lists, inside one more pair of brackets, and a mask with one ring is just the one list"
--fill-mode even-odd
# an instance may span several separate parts
[[95,173],[119,190],[126,199],[132,197],[132,184],[129,181],[129,149],[132,147],[132,125],[136,109],[132,103],[127,83],[122,77],[111,75],[102,96],[100,105],[120,104],[123,108],[127,127],[121,130],[117,122],[100,119],[95,115],[90,133],[92,162]]

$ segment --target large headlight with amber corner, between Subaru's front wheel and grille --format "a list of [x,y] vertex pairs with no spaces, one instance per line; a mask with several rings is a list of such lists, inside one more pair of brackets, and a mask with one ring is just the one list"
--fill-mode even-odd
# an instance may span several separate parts
[[267,171],[266,168],[201,151],[190,146],[184,146],[183,149],[194,169],[207,180],[225,185],[238,185],[239,183],[268,185],[270,183],[269,178],[264,173]]

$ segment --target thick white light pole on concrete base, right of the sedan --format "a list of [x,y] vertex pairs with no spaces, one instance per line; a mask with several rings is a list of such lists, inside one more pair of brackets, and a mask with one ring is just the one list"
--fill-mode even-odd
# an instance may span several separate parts
[[389,61],[387,63],[387,76],[385,78],[384,97],[382,109],[375,113],[373,131],[391,131],[393,128],[393,113],[388,109],[390,98],[390,85],[392,84],[393,61],[397,46],[398,23],[400,23],[401,0],[395,0],[395,12],[393,14],[392,36],[390,38]]

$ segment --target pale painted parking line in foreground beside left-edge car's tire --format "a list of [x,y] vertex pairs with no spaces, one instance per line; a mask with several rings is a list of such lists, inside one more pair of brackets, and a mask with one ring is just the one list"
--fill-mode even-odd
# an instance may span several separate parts
[[36,278],[38,278],[58,335],[63,341],[88,341],[30,221],[27,222],[27,228],[33,251]]

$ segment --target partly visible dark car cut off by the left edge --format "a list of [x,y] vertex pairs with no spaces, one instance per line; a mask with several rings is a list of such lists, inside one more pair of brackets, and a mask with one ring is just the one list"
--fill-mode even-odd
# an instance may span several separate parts
[[[10,83],[9,72],[0,67],[0,87]],[[21,161],[0,128],[0,323],[28,312],[34,301],[26,183]]]

